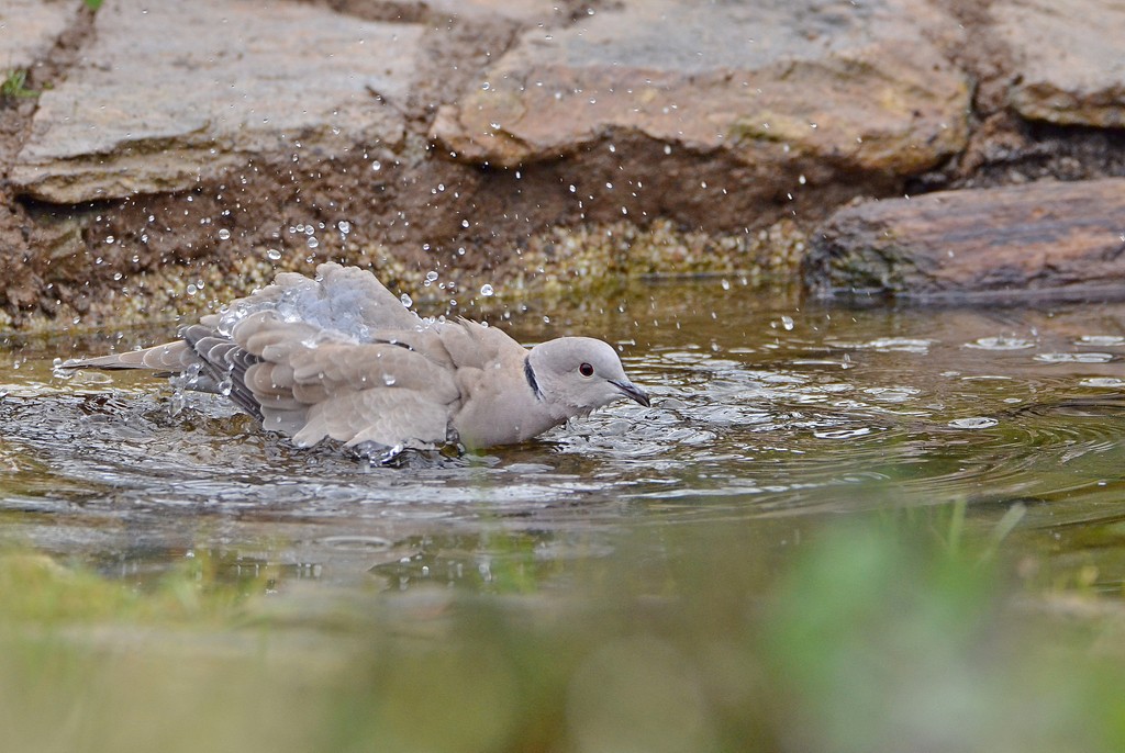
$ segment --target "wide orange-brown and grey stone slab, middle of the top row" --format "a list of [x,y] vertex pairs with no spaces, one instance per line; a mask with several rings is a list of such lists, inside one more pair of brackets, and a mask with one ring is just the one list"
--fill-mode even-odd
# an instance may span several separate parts
[[[968,84],[926,28],[956,22],[908,0],[623,0],[526,31],[433,136],[508,167],[639,135],[764,165],[763,180],[802,156],[912,174],[966,138]],[[778,190],[765,183],[749,190]]]

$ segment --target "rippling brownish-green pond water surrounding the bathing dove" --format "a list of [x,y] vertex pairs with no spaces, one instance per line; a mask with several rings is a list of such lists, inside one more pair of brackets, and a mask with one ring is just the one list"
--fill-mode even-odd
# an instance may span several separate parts
[[498,566],[546,582],[637,528],[760,518],[783,546],[825,516],[964,501],[970,525],[1014,527],[1060,568],[1092,563],[1096,588],[1125,581],[1123,305],[848,309],[708,280],[490,318],[526,343],[619,343],[652,407],[371,468],[295,450],[206,396],[172,415],[160,380],[52,371],[174,323],[11,336],[0,534],[137,582],[206,551],[231,578],[268,564],[333,586],[487,590]]

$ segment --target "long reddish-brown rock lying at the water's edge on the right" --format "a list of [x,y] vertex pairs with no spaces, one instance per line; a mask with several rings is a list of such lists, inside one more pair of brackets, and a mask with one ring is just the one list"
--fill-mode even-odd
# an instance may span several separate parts
[[816,235],[821,297],[917,302],[1125,294],[1125,179],[943,191],[842,209]]

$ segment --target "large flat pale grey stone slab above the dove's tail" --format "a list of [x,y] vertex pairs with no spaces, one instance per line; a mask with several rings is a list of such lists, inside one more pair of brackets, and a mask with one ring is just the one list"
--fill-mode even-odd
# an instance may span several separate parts
[[178,191],[251,157],[404,137],[422,29],[299,3],[114,0],[43,93],[10,179],[79,203]]

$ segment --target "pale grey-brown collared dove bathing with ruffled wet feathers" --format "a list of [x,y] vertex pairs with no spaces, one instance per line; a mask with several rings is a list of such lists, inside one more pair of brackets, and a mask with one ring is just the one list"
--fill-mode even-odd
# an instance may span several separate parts
[[590,337],[528,350],[467,319],[422,319],[368,271],[321,264],[143,351],[64,369],[151,369],[226,394],[267,429],[308,447],[467,447],[523,442],[620,398],[648,396]]

